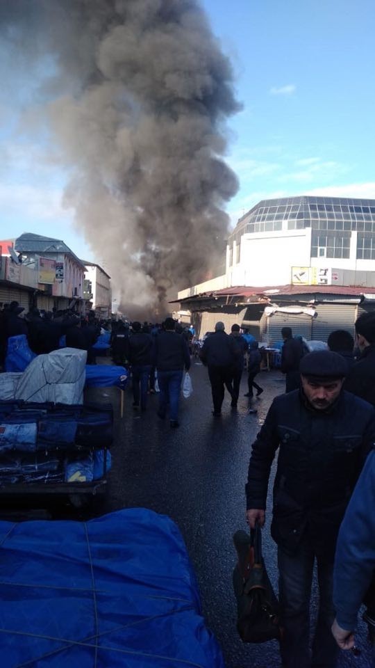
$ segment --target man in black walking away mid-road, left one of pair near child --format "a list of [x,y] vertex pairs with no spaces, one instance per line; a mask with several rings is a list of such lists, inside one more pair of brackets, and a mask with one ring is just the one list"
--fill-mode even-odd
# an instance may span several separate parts
[[224,386],[227,388],[233,401],[231,383],[233,368],[238,358],[238,351],[233,337],[228,336],[224,332],[224,329],[224,322],[219,321],[215,324],[215,332],[206,338],[200,355],[202,363],[208,367],[208,377],[213,395],[213,415],[215,417],[219,417],[222,414]]

